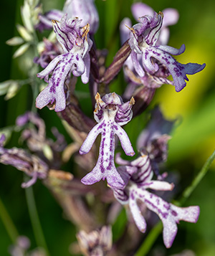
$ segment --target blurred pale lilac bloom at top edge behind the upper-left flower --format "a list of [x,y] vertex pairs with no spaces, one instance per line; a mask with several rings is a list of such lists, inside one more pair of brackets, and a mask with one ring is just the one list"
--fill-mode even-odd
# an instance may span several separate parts
[[52,29],[52,19],[59,21],[64,14],[67,14],[68,18],[78,17],[81,20],[80,27],[90,24],[90,34],[97,32],[99,16],[94,0],[67,0],[62,11],[53,9],[47,11],[44,15],[39,14],[40,22],[36,29],[40,32],[44,29]]

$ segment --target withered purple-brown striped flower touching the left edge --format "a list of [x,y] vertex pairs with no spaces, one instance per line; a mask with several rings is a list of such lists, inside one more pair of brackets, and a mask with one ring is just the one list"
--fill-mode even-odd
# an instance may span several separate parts
[[1,136],[0,163],[14,166],[16,169],[24,171],[28,176],[32,177],[29,181],[22,183],[22,188],[32,186],[37,181],[37,178],[45,179],[47,177],[49,170],[47,163],[22,148],[4,148],[4,139],[5,136]]

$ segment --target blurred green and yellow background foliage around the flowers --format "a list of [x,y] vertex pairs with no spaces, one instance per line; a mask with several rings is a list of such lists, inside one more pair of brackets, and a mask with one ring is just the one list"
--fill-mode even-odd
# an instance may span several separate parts
[[[62,8],[63,0],[44,0],[44,10]],[[131,0],[96,0],[95,4],[100,14],[100,28],[95,35],[95,41],[99,49],[108,48],[107,64],[113,60],[115,52],[120,47],[119,24],[123,17],[133,19],[130,12]],[[22,0],[7,0],[0,2],[1,10],[1,81],[9,79],[26,78],[22,72],[20,60],[12,60],[12,54],[16,47],[5,44],[17,34],[15,24],[21,22],[20,6]],[[168,45],[180,47],[186,44],[186,52],[177,58],[182,63],[206,62],[206,68],[190,76],[190,82],[180,93],[176,93],[171,85],[164,85],[156,91],[156,97],[152,105],[159,104],[167,118],[178,118],[178,123],[169,143],[168,171],[178,172],[178,190],[182,191],[191,183],[194,176],[201,169],[206,158],[215,148],[215,87],[214,87],[214,48],[215,48],[215,1],[205,0],[154,0],[145,1],[155,11],[162,11],[172,7],[179,11],[178,24],[170,27],[171,38]],[[134,22],[134,20],[133,20]],[[0,81],[0,82],[1,82]],[[126,84],[120,73],[118,79],[110,85],[110,90],[122,93]],[[78,90],[88,92],[86,85],[77,85]],[[82,100],[81,105],[85,113],[90,115],[88,104],[90,99]],[[15,98],[5,101],[0,98],[1,127],[14,125],[16,117],[32,105],[32,93],[30,87],[25,85]],[[146,111],[147,112],[147,111]],[[42,118],[47,123],[49,135],[52,126],[59,127],[59,131],[65,133],[57,115],[46,108],[39,110]],[[131,121],[125,130],[128,132],[133,145],[138,133],[145,125],[147,115],[143,113]],[[7,147],[20,146],[19,134],[13,134]],[[69,138],[67,138],[69,140]],[[68,141],[70,143],[70,141]],[[32,248],[36,247],[32,225],[29,219],[27,202],[24,189],[21,188],[23,175],[20,171],[10,166],[1,165],[0,172],[0,198],[4,203],[19,234],[24,234],[32,242]],[[65,171],[72,171],[72,168]],[[165,252],[161,237],[153,246],[162,247],[164,255],[179,253],[184,249],[193,250],[196,255],[215,255],[215,172],[214,166],[209,174],[201,181],[201,184],[186,202],[188,205],[199,205],[201,214],[196,224],[181,223],[173,247]],[[75,227],[62,216],[62,209],[55,202],[52,194],[40,181],[34,185],[34,195],[37,204],[39,218],[41,220],[44,236],[47,240],[51,255],[69,255],[68,247],[75,242]],[[122,216],[124,216],[123,214]],[[117,229],[115,224],[115,229]],[[119,228],[122,221],[119,221]],[[0,255],[8,255],[8,247],[11,240],[0,219]],[[153,252],[151,252],[153,255]]]

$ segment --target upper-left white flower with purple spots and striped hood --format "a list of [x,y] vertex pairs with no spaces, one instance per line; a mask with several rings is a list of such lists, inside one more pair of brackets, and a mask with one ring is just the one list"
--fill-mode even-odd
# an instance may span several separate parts
[[[47,67],[37,74],[44,78],[49,85],[39,93],[36,99],[37,108],[43,108],[55,101],[55,111],[66,107],[65,80],[72,72],[76,77],[81,76],[82,82],[87,83],[90,77],[90,54],[92,41],[88,36],[89,24],[80,29],[80,19],[68,19],[67,14],[61,22],[52,21],[57,40],[62,46],[63,54],[55,57]],[[51,77],[49,74],[52,72]]]

